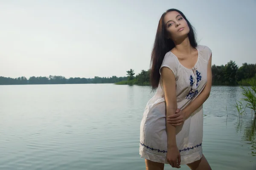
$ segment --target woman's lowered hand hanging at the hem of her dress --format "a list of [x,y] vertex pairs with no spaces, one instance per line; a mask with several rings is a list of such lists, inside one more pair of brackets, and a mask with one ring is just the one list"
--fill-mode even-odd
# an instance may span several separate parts
[[172,167],[180,168],[180,152],[177,146],[167,148],[166,159]]

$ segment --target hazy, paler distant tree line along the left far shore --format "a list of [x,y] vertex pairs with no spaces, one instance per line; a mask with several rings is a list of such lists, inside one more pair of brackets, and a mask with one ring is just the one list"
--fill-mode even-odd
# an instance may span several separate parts
[[39,84],[98,84],[98,83],[116,83],[127,80],[128,77],[94,77],[94,78],[80,78],[63,76],[49,76],[49,77],[0,77],[0,85],[39,85]]

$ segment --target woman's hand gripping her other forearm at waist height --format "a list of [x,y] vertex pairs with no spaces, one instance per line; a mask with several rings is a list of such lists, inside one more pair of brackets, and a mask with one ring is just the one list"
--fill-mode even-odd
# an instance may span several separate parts
[[177,109],[175,114],[167,117],[167,123],[173,126],[182,125],[185,122],[185,120],[186,120],[186,115],[180,109]]

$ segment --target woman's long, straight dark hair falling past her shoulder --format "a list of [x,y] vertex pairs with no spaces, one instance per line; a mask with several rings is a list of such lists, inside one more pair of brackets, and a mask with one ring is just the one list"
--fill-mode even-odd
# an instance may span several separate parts
[[162,65],[163,58],[164,58],[165,54],[168,51],[172,50],[172,48],[175,47],[175,43],[171,39],[166,38],[167,31],[166,31],[166,27],[164,26],[164,22],[163,22],[164,16],[166,15],[166,13],[168,13],[170,11],[177,11],[186,20],[186,22],[189,26],[189,30],[190,30],[189,34],[188,34],[190,45],[193,48],[197,47],[197,42],[195,40],[194,27],[189,23],[189,21],[186,19],[185,15],[177,9],[169,9],[165,13],[163,13],[163,15],[161,16],[159,23],[158,23],[157,34],[156,34],[155,41],[154,41],[154,47],[153,47],[153,51],[151,53],[150,82],[151,82],[152,90],[154,90],[158,87],[159,80],[160,80],[159,69]]

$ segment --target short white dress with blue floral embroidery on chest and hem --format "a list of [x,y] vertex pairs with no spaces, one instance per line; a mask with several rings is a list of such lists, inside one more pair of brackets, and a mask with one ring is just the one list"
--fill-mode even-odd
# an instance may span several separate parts
[[[204,89],[207,82],[207,65],[212,51],[198,45],[198,60],[192,69],[180,64],[177,57],[167,52],[162,67],[171,69],[176,77],[177,108],[186,108]],[[156,94],[148,101],[140,124],[140,156],[155,162],[168,164],[166,105],[162,79]],[[203,106],[192,113],[183,125],[176,127],[176,143],[181,164],[201,159],[203,139]]]

